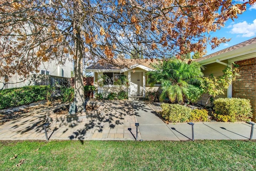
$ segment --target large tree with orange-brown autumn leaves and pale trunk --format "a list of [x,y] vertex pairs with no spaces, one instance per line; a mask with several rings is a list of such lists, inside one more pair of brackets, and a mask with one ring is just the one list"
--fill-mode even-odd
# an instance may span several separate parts
[[[113,62],[205,53],[226,38],[207,33],[237,18],[232,0],[0,0],[0,77],[26,76],[42,62],[74,60],[75,102],[84,109],[83,58]],[[90,56],[86,55],[90,53]]]

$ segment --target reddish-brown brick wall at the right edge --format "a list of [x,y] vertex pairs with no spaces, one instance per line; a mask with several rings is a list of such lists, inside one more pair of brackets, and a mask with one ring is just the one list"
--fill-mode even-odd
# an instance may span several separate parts
[[235,62],[239,65],[237,81],[233,82],[232,97],[250,99],[253,108],[253,121],[256,121],[256,58]]

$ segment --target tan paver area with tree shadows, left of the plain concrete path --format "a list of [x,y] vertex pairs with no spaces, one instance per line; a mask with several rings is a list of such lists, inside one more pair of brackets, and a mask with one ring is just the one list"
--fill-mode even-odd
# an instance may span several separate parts
[[[48,137],[54,139],[78,139],[78,140],[134,140],[135,123],[137,122],[131,102],[104,101],[103,115],[84,118],[76,124],[52,123],[47,128]],[[58,105],[57,105],[58,107]],[[46,113],[57,108],[46,105],[37,105],[27,116],[0,125],[0,139],[2,140],[45,140],[45,132],[42,125],[46,121]],[[131,132],[128,128],[132,128]]]

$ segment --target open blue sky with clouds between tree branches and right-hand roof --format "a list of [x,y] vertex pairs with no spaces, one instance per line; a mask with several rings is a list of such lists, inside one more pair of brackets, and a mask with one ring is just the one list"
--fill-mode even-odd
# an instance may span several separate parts
[[228,20],[224,28],[210,35],[218,38],[231,38],[231,40],[226,44],[220,44],[220,46],[214,50],[211,50],[211,46],[208,45],[207,55],[256,37],[256,4],[247,8],[247,10],[239,15],[238,18],[235,18],[234,21],[231,19]]

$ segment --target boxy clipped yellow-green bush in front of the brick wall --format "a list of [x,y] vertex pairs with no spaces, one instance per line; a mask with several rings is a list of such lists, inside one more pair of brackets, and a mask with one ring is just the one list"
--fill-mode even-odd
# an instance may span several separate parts
[[214,110],[217,121],[249,121],[252,117],[252,106],[248,99],[218,98],[214,101]]

